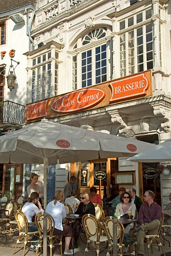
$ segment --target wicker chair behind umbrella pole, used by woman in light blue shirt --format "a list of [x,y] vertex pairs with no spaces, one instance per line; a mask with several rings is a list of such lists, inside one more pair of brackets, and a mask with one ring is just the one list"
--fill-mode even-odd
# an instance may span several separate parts
[[[54,231],[54,226],[55,226],[55,222],[53,217],[46,213],[46,217],[47,217],[47,243],[50,246],[50,256],[52,256],[52,246],[53,245],[60,245],[60,249],[61,249],[61,255],[62,255],[62,235],[60,236],[54,236],[53,235],[53,231]],[[38,228],[38,232],[39,232],[39,243],[37,246],[37,251],[36,251],[36,255],[37,256],[37,252],[38,252],[38,248],[42,248],[42,242],[43,242],[43,219],[44,219],[44,215],[42,212],[39,212],[36,214],[35,217],[35,222]]]

